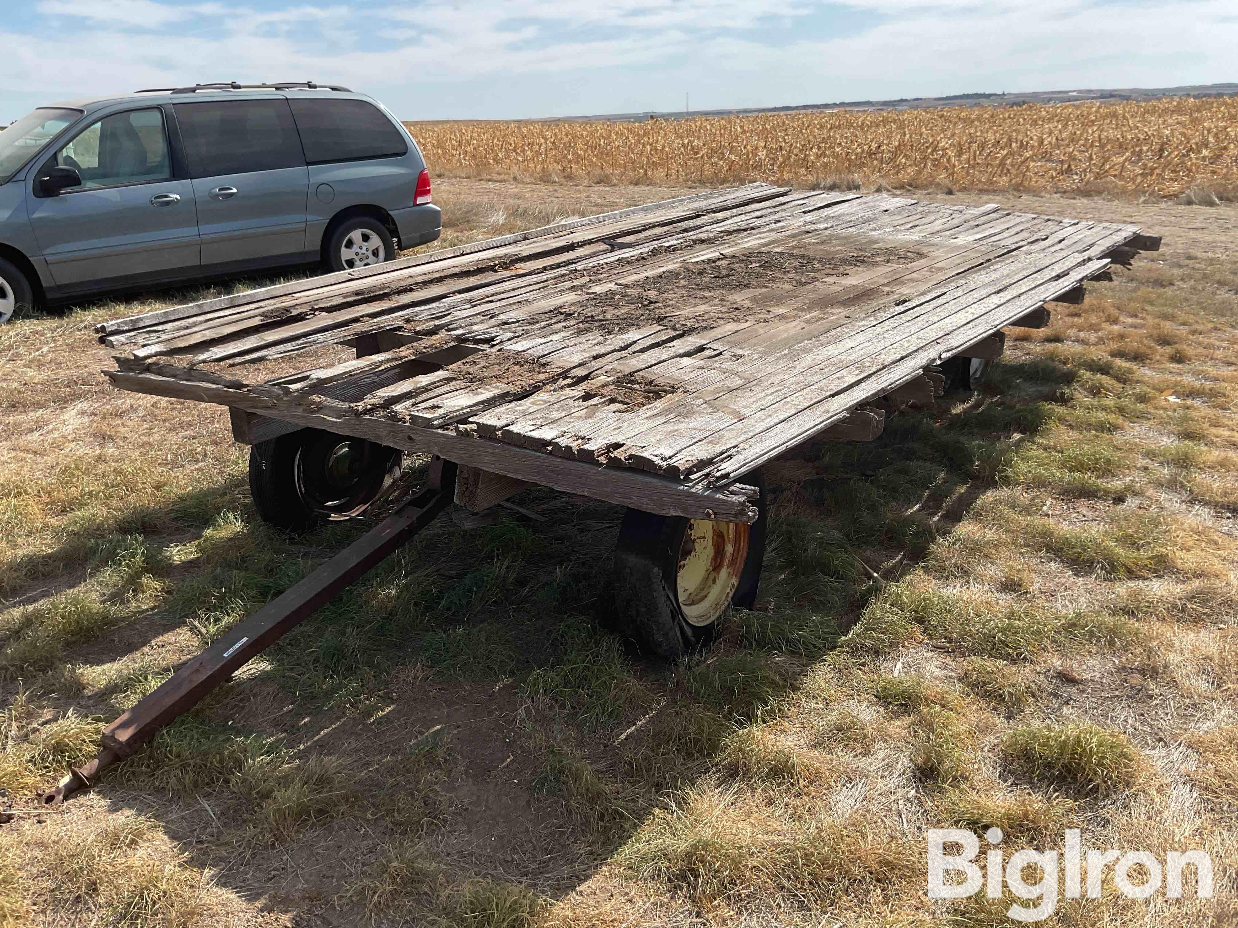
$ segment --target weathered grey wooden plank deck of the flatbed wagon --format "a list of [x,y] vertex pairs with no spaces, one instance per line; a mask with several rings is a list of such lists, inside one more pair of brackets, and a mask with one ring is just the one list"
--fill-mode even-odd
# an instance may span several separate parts
[[875,433],[890,406],[870,403],[999,351],[1003,327],[1042,324],[1044,303],[1158,244],[1133,225],[750,184],[99,329],[129,353],[104,371],[118,387],[232,406],[241,438],[319,426],[747,520],[743,474],[831,427]]

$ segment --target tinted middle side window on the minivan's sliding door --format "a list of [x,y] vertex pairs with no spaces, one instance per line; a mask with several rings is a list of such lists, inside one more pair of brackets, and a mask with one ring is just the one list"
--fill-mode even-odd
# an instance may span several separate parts
[[305,167],[287,100],[212,100],[176,104],[193,177]]

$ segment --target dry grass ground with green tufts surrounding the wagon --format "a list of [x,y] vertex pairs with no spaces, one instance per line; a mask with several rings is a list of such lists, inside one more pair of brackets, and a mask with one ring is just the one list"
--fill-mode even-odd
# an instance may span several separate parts
[[[675,193],[436,187],[444,244]],[[1005,924],[925,897],[947,825],[1205,849],[1211,902],[1107,877],[1047,923],[1232,923],[1238,209],[1002,202],[1165,246],[982,393],[769,465],[759,609],[707,655],[597,630],[621,512],[531,490],[540,518],[441,518],[57,812],[33,791],[105,720],[363,527],[269,531],[220,408],[105,386],[94,323],[203,291],[0,328],[0,926]]]

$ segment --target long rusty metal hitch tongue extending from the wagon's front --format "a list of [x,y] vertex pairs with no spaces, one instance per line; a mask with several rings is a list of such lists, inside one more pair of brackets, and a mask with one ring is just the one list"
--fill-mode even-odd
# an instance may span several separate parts
[[326,564],[267,603],[224,637],[192,658],[154,693],[128,709],[100,735],[99,754],[72,768],[40,797],[43,806],[59,806],[89,788],[103,771],[147,744],[161,728],[192,709],[251,657],[274,645],[321,606],[352,586],[371,568],[433,521],[456,492],[456,464],[435,458],[425,490],[402,504],[379,525]]

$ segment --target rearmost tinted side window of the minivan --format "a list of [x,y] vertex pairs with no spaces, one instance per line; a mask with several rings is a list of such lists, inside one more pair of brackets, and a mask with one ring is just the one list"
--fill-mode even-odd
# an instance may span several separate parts
[[409,145],[400,130],[374,104],[365,100],[288,100],[297,118],[306,161],[392,158],[405,155]]

